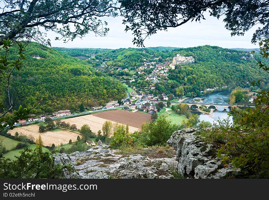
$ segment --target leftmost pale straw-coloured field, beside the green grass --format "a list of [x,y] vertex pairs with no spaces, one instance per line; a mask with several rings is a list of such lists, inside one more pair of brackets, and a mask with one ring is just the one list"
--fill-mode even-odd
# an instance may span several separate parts
[[[38,125],[28,125],[14,128],[13,130],[9,130],[8,133],[10,133],[11,135],[15,135],[15,133],[18,132],[19,135],[26,135],[26,136],[32,135],[35,140],[39,137],[40,134],[44,146],[51,146],[52,144],[58,146],[61,143],[67,144],[70,139],[74,142],[77,140],[77,137],[79,135],[77,133],[63,129],[61,129],[60,131],[47,131],[44,133],[39,133],[38,130],[39,130]],[[81,138],[81,135],[79,136]]]

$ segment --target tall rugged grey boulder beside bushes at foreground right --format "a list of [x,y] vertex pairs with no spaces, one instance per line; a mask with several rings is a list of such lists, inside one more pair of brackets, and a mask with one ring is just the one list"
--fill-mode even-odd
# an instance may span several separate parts
[[212,144],[202,142],[195,135],[196,131],[195,128],[181,129],[167,141],[176,150],[178,172],[193,178],[223,178],[233,172],[234,167],[222,166],[221,160],[215,155],[216,149]]

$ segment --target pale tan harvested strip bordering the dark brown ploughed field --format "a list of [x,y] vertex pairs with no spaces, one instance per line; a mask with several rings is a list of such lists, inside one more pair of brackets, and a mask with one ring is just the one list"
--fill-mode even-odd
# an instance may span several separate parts
[[[102,112],[105,115],[106,114],[110,114],[111,111],[106,111],[106,112]],[[120,113],[122,113],[120,111]],[[123,112],[125,113],[125,112]],[[101,113],[98,113],[101,114]],[[95,115],[95,114],[94,114]],[[138,129],[141,128],[141,125],[135,125],[135,126],[131,126],[128,121],[126,121],[126,123],[122,123],[120,122],[117,118],[119,118],[119,116],[115,115],[114,118],[101,118],[101,117],[97,117],[94,116],[93,114],[89,114],[89,115],[85,115],[85,116],[80,116],[80,117],[75,117],[75,118],[69,118],[69,119],[64,119],[61,121],[65,121],[65,122],[69,122],[71,125],[72,124],[76,124],[77,128],[81,128],[81,126],[83,126],[84,124],[87,124],[90,126],[90,129],[92,130],[92,132],[97,133],[98,130],[102,130],[102,126],[105,123],[105,121],[109,120],[112,123],[116,123],[118,122],[119,124],[123,124],[123,125],[129,125],[129,132],[133,133],[135,131],[137,131]],[[122,117],[121,117],[122,118]],[[150,115],[149,115],[150,118]]]

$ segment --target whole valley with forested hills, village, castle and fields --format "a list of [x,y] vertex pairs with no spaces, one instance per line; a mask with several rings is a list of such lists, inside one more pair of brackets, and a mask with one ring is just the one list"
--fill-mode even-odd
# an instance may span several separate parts
[[[227,118],[227,111],[211,110],[210,116],[192,110],[182,114],[172,110],[171,103],[201,98],[202,102],[214,103],[219,93],[236,86],[248,88],[253,95],[258,88],[250,82],[260,76],[262,86],[269,87],[268,75],[256,71],[256,60],[262,59],[259,54],[208,45],[112,50],[42,48],[32,43],[27,56],[27,67],[17,74],[14,87],[28,96],[20,103],[31,109],[31,118],[17,125],[26,126],[9,130],[8,134],[32,136],[34,142],[40,134],[44,146],[54,144],[65,151],[77,145],[83,125],[90,127],[94,134],[90,140],[95,140],[105,121],[129,125],[130,133],[140,131],[143,122],[154,121],[154,114],[165,116],[178,128],[192,114],[199,114],[200,121],[214,123],[219,117]],[[224,95],[222,101],[227,102],[228,97]],[[241,104],[252,105],[251,95],[244,97]],[[39,127],[46,117],[52,118],[54,124],[60,120],[76,125],[76,129],[55,128],[42,133]],[[8,142],[4,143],[8,146]],[[90,146],[83,143],[83,148]],[[13,151],[19,155],[19,149],[12,149],[8,152],[11,157]]]

